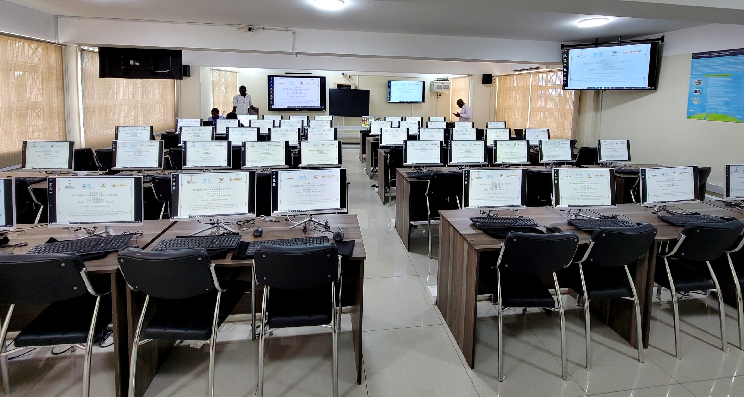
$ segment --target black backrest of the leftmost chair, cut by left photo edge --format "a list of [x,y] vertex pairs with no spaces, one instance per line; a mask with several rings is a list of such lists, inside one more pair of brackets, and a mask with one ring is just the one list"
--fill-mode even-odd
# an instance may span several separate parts
[[0,255],[0,304],[54,303],[87,294],[77,254]]

